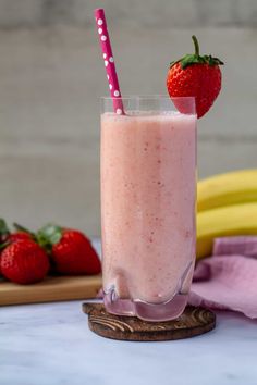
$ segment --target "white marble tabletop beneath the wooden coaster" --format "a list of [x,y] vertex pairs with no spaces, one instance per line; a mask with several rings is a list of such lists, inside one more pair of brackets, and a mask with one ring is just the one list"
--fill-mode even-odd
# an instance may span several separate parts
[[82,302],[0,309],[1,385],[257,384],[257,322],[219,312],[191,339],[127,343],[91,333]]

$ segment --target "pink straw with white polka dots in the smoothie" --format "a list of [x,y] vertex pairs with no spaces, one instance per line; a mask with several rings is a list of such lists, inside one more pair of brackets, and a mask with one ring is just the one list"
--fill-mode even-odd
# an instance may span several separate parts
[[110,95],[113,101],[113,110],[121,115],[124,114],[124,108],[121,99],[121,91],[115,71],[115,63],[111,50],[111,42],[107,29],[105,11],[102,9],[95,10],[95,18],[105,61],[107,78],[109,82]]

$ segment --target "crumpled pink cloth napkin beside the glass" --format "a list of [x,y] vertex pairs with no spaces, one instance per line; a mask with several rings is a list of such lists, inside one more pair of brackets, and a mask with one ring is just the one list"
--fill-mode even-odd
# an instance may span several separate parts
[[257,236],[217,238],[196,265],[189,303],[257,318]]

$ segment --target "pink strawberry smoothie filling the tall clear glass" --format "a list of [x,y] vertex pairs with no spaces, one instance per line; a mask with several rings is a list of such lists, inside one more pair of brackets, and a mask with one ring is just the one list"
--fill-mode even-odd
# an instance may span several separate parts
[[188,293],[195,149],[195,115],[101,115],[105,293],[150,303]]

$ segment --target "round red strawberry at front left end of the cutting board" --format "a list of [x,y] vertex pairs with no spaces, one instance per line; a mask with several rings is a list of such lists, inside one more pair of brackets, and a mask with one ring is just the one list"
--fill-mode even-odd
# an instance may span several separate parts
[[2,274],[17,284],[33,284],[41,281],[48,270],[49,260],[44,249],[29,239],[7,246],[1,254]]

